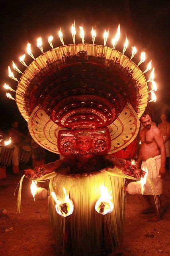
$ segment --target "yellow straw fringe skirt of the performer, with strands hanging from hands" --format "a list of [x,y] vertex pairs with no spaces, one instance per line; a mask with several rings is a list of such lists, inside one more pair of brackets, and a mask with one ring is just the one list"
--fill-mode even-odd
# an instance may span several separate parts
[[[18,191],[18,213],[21,208],[21,186],[24,175],[20,180]],[[46,174],[41,178],[34,179],[37,182],[49,183],[49,218],[51,229],[57,244],[69,244],[72,248],[72,255],[81,254],[98,255],[101,249],[111,246],[112,249],[121,244],[121,237],[124,227],[125,217],[125,178],[137,180],[123,174],[118,168],[108,168],[96,174],[83,176],[66,175],[57,172]],[[158,200],[153,191],[156,208],[158,210]],[[95,204],[100,198],[100,186],[106,186],[111,192],[113,211],[106,215],[96,212]],[[58,198],[64,198],[63,187],[66,194],[74,203],[73,213],[64,218],[55,209],[55,201],[51,192],[55,192]]]

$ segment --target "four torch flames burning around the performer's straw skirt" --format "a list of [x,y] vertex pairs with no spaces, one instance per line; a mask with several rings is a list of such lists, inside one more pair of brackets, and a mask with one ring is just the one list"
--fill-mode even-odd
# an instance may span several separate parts
[[[143,194],[144,190],[144,184],[147,181],[147,174],[148,171],[147,169],[145,170],[146,174],[143,178],[139,180],[139,183],[141,184],[141,194]],[[31,193],[33,195],[33,198],[35,200],[35,194],[37,193],[38,189],[37,188],[37,182],[32,181],[31,184]],[[57,213],[63,217],[67,217],[72,214],[74,211],[74,204],[72,200],[69,198],[69,194],[66,194],[65,188],[63,188],[64,191],[64,198],[57,198],[55,192],[51,192],[51,196],[56,202],[55,209]],[[111,197],[111,191],[109,192],[107,187],[105,186],[100,186],[100,198],[97,200],[95,204],[95,210],[96,212],[106,215],[110,212],[113,211],[113,202],[111,202],[112,197]]]

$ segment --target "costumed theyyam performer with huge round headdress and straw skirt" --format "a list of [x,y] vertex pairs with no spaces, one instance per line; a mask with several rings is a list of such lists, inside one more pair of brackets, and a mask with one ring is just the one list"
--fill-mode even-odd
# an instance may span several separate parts
[[[124,180],[145,175],[131,162],[112,156],[137,136],[139,118],[149,100],[148,86],[152,86],[139,68],[145,52],[137,66],[131,60],[135,47],[131,59],[124,55],[127,39],[123,53],[115,50],[119,34],[120,26],[109,48],[108,32],[101,46],[94,44],[96,31],[92,29],[93,44],[85,44],[80,27],[82,43],[75,44],[74,24],[73,44],[64,45],[60,30],[63,46],[54,48],[51,36],[52,49],[47,52],[39,38],[42,54],[34,58],[28,44],[33,62],[16,90],[16,103],[32,138],[64,157],[25,170],[25,176],[37,182],[50,179],[51,228],[57,244],[70,246],[73,255],[100,255],[119,246],[125,215]],[[27,66],[24,58],[25,54],[20,62]],[[18,202],[20,206],[20,198]]]

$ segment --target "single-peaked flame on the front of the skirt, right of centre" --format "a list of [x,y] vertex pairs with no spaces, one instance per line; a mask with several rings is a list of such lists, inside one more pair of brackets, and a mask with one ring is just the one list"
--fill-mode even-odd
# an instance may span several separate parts
[[110,193],[108,192],[108,189],[105,186],[100,186],[101,196],[95,204],[96,212],[102,215],[112,212],[113,203],[110,201],[112,199]]

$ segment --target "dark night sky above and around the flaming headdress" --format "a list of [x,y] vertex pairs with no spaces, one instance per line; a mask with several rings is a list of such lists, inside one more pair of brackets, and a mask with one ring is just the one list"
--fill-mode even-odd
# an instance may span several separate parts
[[[167,1],[168,2],[168,1]],[[32,44],[32,52],[35,57],[40,55],[36,46],[36,39],[43,38],[44,50],[49,50],[47,39],[54,36],[54,46],[60,46],[57,35],[62,28],[64,43],[72,42],[70,26],[75,20],[76,29],[83,24],[85,30],[85,42],[91,43],[90,31],[96,27],[96,44],[103,44],[104,29],[110,29],[110,37],[107,46],[111,47],[111,37],[114,37],[117,26],[121,24],[121,38],[116,49],[122,50],[125,34],[130,41],[130,46],[136,46],[138,51],[146,51],[147,60],[141,65],[142,70],[152,59],[155,67],[155,81],[158,85],[156,93],[157,102],[155,109],[160,114],[160,109],[168,108],[170,98],[169,76],[169,37],[170,37],[170,4],[166,1],[114,1],[103,0],[88,1],[58,1],[58,0],[34,0],[34,1],[0,1],[1,16],[1,40],[0,40],[0,128],[10,128],[14,119],[20,121],[20,129],[24,130],[26,122],[21,117],[15,102],[6,99],[6,91],[2,85],[6,82],[12,88],[16,88],[17,82],[8,78],[8,65],[12,66],[12,60],[18,68],[24,71],[24,66],[19,62],[19,56],[25,53],[27,41]],[[78,34],[78,33],[77,33]],[[81,42],[77,35],[76,42]],[[137,54],[135,63],[139,61]],[[127,56],[131,56],[131,48],[127,50]],[[26,57],[29,64],[31,58]],[[18,78],[20,75],[14,71]]]

